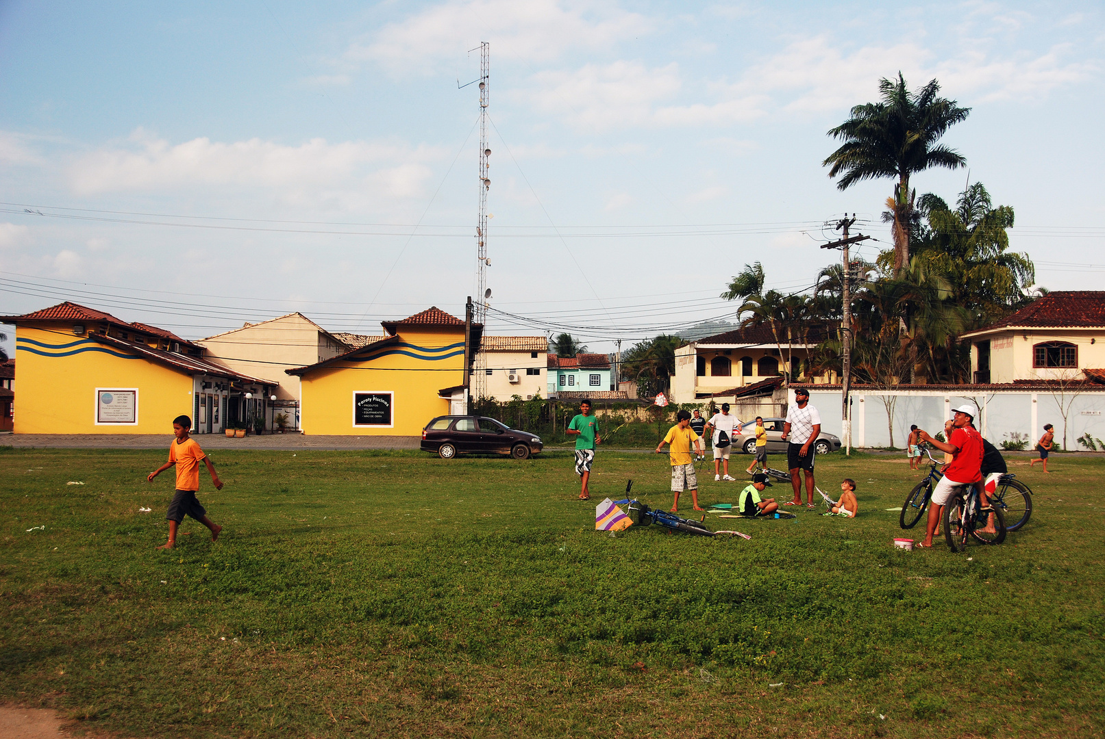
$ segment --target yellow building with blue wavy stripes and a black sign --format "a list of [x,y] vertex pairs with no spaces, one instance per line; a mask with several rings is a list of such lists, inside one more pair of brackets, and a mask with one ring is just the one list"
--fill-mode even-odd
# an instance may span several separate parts
[[[299,376],[304,433],[418,436],[464,399],[464,321],[429,308],[382,323],[387,336],[315,364]],[[483,326],[472,325],[471,352]]]

